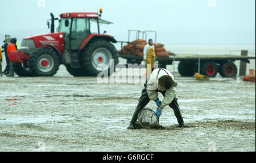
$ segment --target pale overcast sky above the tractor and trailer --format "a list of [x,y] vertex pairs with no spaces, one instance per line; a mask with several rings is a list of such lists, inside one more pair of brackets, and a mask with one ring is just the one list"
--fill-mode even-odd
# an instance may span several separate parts
[[[255,0],[8,0],[1,1],[0,41],[48,33],[50,12],[96,12],[114,24],[101,31],[127,41],[127,30],[155,30],[170,45],[255,45]],[[150,36],[154,38],[154,36]]]

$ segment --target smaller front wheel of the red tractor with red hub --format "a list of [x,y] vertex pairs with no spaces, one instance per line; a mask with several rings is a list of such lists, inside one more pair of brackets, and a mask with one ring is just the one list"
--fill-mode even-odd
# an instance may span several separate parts
[[53,76],[60,66],[60,58],[50,48],[35,49],[28,58],[28,67],[35,76]]

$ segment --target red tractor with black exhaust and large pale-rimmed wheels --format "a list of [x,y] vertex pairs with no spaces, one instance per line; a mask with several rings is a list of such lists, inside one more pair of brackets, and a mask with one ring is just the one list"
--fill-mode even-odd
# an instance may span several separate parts
[[[60,19],[51,13],[51,34],[26,37],[19,51],[10,52],[18,76],[53,76],[64,64],[73,76],[97,76],[118,64],[118,51],[112,43],[113,36],[100,34],[100,24],[111,24],[101,19],[97,12],[68,12]],[[59,20],[57,32],[55,20]],[[49,20],[47,24],[49,27]],[[92,23],[97,23],[98,33],[91,33]]]

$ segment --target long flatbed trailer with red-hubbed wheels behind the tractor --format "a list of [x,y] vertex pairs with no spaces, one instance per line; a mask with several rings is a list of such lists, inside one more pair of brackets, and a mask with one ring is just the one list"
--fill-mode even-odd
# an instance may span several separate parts
[[[217,73],[222,77],[235,77],[237,66],[234,61],[250,63],[251,59],[255,59],[255,56],[247,56],[246,52],[242,51],[241,56],[175,54],[169,57],[156,57],[156,61],[160,68],[166,68],[166,65],[172,65],[174,61],[180,61],[178,71],[181,76],[193,76],[198,72],[209,77],[215,77]],[[119,57],[127,59],[127,64],[141,64],[143,61],[143,57],[137,55],[119,53]]]

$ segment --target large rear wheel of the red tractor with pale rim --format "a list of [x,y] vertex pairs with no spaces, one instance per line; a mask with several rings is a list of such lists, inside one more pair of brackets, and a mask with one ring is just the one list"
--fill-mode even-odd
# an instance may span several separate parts
[[[114,62],[110,62],[114,59]],[[97,69],[99,64],[108,64],[104,69]],[[110,76],[115,71],[115,66],[118,64],[118,51],[114,45],[106,40],[93,40],[81,54],[81,68],[84,72],[88,72],[89,76],[97,76],[99,73],[108,73]],[[114,68],[113,71],[110,68]]]

